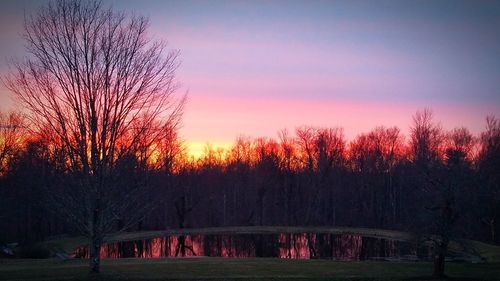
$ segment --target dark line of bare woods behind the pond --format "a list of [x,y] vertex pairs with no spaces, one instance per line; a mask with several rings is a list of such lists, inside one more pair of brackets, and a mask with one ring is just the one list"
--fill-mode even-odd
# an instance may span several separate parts
[[[1,129],[1,241],[78,233],[53,210],[71,215],[80,207],[62,192],[71,181],[68,156],[30,135],[22,115],[4,114],[2,121],[14,125]],[[299,127],[276,139],[240,137],[228,150],[207,145],[199,159],[187,156],[175,131],[159,140],[138,141],[117,164],[117,188],[132,183],[143,194],[127,205],[143,214],[130,230],[356,226],[500,242],[495,117],[478,136],[443,130],[430,110],[413,116],[409,136],[377,127],[348,141],[342,128]]]

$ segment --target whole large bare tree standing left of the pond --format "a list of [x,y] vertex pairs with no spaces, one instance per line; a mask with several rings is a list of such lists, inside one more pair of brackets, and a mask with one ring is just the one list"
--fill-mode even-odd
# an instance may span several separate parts
[[5,79],[34,128],[64,151],[71,180],[49,195],[90,239],[93,272],[105,236],[150,209],[148,183],[120,169],[177,126],[185,101],[174,95],[178,51],[165,52],[147,29],[148,19],[99,1],[51,2],[26,18],[29,56]]

